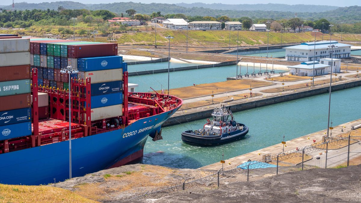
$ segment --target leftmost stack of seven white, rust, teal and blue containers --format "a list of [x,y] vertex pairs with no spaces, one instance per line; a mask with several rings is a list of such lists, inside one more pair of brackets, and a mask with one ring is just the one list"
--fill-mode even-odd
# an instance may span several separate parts
[[29,45],[0,38],[0,140],[31,135]]

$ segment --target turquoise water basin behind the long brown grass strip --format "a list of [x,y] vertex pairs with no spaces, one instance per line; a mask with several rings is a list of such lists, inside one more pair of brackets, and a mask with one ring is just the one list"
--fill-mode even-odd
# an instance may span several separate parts
[[[148,64],[142,64],[142,65],[148,65]],[[129,67],[130,66],[128,66],[128,70]],[[271,67],[272,65],[269,66],[268,71],[272,69]],[[247,69],[246,66],[242,66],[241,72],[243,75],[247,72],[246,69]],[[262,68],[261,70],[264,72],[266,68]],[[257,64],[256,64],[255,72],[258,73],[259,71],[260,68],[258,67],[257,69]],[[284,70],[275,69],[275,73],[279,73],[282,71]],[[248,66],[248,72],[249,73],[253,72],[253,66],[252,68]],[[239,74],[239,66],[238,66],[238,74]],[[226,81],[227,77],[236,77],[236,65],[170,72],[169,88],[171,89],[171,88],[192,86],[193,83],[199,85],[203,83],[222,82],[222,81]],[[166,90],[168,88],[168,73],[131,76],[129,77],[129,83],[138,84],[139,87],[135,88],[135,91],[138,92],[148,92],[148,90],[152,91],[150,87],[152,87],[155,90],[161,90],[161,88],[164,88]]]

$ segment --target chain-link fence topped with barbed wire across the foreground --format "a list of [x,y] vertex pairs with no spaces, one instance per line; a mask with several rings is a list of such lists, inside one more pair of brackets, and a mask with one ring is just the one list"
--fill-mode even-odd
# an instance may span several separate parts
[[[128,198],[163,193],[165,195],[190,189],[195,186],[222,187],[230,182],[257,181],[277,174],[312,168],[342,168],[361,164],[361,136],[324,138],[323,142],[284,151],[278,154],[266,154],[262,159],[226,167],[217,172],[210,172],[203,177],[187,178],[172,186],[155,188],[138,193]],[[127,198],[127,199],[128,199]]]

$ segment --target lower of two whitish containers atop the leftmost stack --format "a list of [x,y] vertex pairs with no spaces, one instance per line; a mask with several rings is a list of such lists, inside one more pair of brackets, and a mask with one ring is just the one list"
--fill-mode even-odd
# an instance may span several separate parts
[[30,64],[30,52],[0,53],[0,66],[29,65],[29,64]]

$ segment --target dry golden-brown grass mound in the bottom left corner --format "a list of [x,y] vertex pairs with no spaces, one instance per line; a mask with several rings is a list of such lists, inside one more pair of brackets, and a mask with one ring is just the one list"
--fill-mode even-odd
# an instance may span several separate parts
[[0,184],[0,202],[96,202],[69,190],[49,186]]

